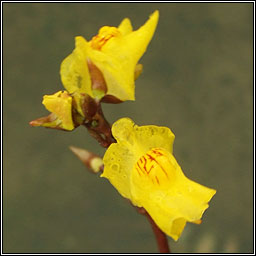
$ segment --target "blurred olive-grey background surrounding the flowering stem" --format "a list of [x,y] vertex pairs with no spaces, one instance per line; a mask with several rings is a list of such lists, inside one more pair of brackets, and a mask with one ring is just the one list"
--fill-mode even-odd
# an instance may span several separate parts
[[192,180],[217,194],[203,223],[169,238],[177,253],[253,252],[253,3],[4,3],[3,250],[5,253],[155,253],[151,227],[70,145],[103,156],[83,127],[33,128],[74,37],[158,9],[140,60],[136,101],[104,104],[107,119],[168,126]]

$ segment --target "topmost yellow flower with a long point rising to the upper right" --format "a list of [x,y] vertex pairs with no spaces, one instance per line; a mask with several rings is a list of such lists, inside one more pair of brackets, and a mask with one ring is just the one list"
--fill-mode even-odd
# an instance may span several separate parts
[[108,95],[121,101],[134,100],[134,80],[142,68],[136,65],[154,34],[158,16],[155,11],[136,31],[126,18],[119,27],[102,27],[89,42],[76,37],[74,51],[60,68],[66,90],[87,93],[96,99]]

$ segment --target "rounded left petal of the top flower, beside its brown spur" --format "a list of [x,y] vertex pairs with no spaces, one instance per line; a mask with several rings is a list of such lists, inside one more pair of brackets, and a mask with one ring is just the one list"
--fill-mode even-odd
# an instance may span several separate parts
[[61,63],[61,81],[69,93],[80,92],[92,96],[87,66],[88,43],[81,36],[76,37],[75,42],[74,51]]

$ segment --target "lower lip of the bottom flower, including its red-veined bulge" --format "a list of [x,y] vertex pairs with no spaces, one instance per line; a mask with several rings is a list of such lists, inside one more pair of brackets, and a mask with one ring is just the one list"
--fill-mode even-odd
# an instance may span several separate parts
[[140,158],[131,175],[131,195],[159,228],[177,240],[187,221],[198,223],[216,193],[189,180],[174,156],[152,149]]

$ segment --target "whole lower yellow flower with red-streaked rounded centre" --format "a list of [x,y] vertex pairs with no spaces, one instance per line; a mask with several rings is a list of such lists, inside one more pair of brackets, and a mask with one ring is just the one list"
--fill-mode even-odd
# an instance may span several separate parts
[[103,163],[102,177],[138,207],[144,207],[159,228],[174,240],[186,222],[201,223],[214,189],[189,180],[172,154],[174,134],[167,127],[137,126],[131,119],[115,122]]

